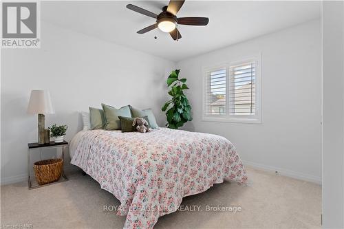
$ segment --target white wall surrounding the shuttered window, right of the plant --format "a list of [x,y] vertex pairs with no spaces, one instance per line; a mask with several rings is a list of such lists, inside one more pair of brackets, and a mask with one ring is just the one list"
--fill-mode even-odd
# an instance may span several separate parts
[[[202,121],[202,67],[261,52],[262,124]],[[223,135],[248,164],[321,183],[320,19],[180,61],[192,131]]]

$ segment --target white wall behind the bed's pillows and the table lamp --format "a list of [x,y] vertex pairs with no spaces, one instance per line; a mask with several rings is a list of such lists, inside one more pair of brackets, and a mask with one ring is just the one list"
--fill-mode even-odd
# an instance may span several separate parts
[[101,102],[151,107],[164,125],[171,61],[48,23],[41,24],[41,49],[1,51],[2,184],[26,176],[27,144],[37,140],[37,117],[26,113],[32,89],[50,91],[56,114],[45,117],[45,127],[67,124],[67,140],[82,128],[78,111]]

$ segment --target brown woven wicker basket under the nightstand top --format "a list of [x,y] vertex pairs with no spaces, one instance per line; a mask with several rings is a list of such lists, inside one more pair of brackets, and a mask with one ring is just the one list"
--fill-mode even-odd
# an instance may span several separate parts
[[61,158],[34,162],[34,173],[39,184],[57,182],[61,177],[63,160]]

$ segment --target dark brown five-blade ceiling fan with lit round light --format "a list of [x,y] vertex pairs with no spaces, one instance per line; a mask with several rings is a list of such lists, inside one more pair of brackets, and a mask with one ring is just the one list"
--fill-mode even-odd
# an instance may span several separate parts
[[173,40],[178,41],[182,35],[176,28],[177,25],[208,25],[209,19],[207,17],[177,17],[177,13],[182,8],[185,0],[171,0],[169,6],[164,6],[160,14],[155,14],[148,10],[144,10],[138,6],[128,4],[127,8],[140,14],[156,19],[156,23],[149,25],[146,28],[138,31],[138,34],[144,34],[155,28],[159,28],[162,32],[169,32]]

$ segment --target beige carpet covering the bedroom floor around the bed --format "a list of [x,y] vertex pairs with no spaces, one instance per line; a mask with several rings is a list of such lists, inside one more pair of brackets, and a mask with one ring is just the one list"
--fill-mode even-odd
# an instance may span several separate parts
[[[178,211],[160,217],[155,228],[320,228],[321,186],[248,168],[249,186],[224,182],[185,197]],[[33,228],[122,228],[125,217],[104,211],[119,206],[97,182],[80,173],[61,184],[28,190],[26,182],[1,186],[1,225]],[[206,206],[240,206],[240,212],[208,212]],[[110,208],[110,207],[108,207]]]

